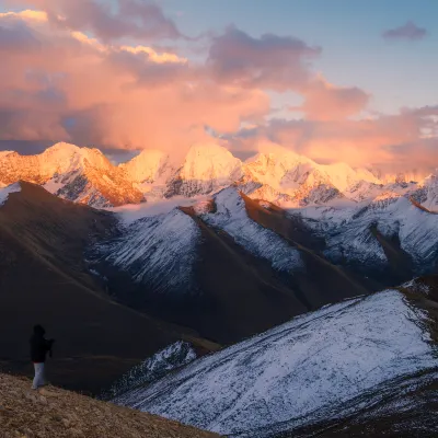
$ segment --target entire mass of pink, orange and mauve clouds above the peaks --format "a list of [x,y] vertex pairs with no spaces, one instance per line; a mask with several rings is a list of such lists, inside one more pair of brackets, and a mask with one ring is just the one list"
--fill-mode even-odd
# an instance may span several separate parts
[[[321,48],[301,39],[229,27],[203,39],[209,46],[194,61],[158,49],[180,33],[157,5],[147,13],[152,3],[27,3],[39,9],[0,14],[0,141],[183,154],[211,135],[229,139],[241,157],[267,140],[319,162],[391,171],[438,162],[438,106],[365,118],[370,95],[315,74]],[[273,119],[273,91],[301,96],[288,116],[303,118]]]

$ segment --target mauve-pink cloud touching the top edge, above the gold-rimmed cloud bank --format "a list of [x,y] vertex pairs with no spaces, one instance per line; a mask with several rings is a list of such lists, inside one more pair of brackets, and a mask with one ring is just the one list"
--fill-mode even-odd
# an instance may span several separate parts
[[50,22],[72,31],[91,33],[103,42],[180,38],[174,22],[152,1],[114,0],[7,0],[45,11]]

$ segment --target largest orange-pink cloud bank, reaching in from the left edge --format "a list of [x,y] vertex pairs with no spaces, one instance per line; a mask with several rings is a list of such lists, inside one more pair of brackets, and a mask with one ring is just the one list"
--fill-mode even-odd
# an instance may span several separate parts
[[182,151],[206,137],[205,126],[234,131],[269,112],[263,90],[216,83],[176,54],[24,15],[0,18],[0,28],[2,140]]

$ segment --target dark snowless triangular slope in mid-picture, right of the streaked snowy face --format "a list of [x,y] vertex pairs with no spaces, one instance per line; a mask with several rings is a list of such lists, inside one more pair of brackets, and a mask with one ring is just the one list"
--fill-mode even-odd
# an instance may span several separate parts
[[200,333],[232,343],[309,310],[306,298],[285,286],[268,263],[207,226],[193,208],[181,209],[201,232],[194,273],[200,295],[191,312]]

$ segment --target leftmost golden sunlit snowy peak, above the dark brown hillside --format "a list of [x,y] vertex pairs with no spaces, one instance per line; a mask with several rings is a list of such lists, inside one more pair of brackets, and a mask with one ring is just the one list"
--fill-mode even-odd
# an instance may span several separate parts
[[97,149],[57,143],[38,155],[0,155],[3,185],[27,181],[61,198],[93,207],[137,204],[143,195]]

